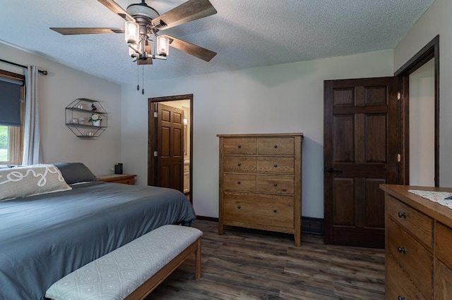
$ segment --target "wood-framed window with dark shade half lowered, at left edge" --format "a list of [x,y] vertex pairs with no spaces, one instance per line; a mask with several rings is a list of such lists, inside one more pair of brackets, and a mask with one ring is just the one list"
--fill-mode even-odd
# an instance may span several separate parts
[[[2,115],[0,113],[0,164],[20,164],[22,162],[23,151],[23,101],[25,96],[25,77],[20,74],[0,70],[0,99],[1,111],[12,106],[13,111],[18,115],[18,120],[9,118],[11,113]],[[14,90],[9,89],[8,84]],[[10,96],[15,94],[15,96]],[[19,99],[17,99],[19,97]],[[12,124],[12,125],[11,125]]]

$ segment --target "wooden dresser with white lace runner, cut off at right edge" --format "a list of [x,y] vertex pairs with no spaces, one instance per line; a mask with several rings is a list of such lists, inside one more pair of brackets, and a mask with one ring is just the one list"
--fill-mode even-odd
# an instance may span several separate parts
[[452,299],[452,209],[409,189],[381,185],[386,204],[386,299]]

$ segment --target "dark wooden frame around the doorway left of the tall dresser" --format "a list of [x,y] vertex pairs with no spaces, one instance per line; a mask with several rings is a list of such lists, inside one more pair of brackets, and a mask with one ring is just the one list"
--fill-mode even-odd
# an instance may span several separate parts
[[[175,95],[175,96],[162,96],[148,98],[148,185],[155,185],[155,177],[157,175],[157,160],[154,158],[154,151],[157,151],[157,128],[155,126],[157,118],[153,116],[153,105],[157,102],[168,101],[190,101],[190,127],[189,127],[189,139],[190,139],[190,180],[189,180],[189,198],[191,204],[193,204],[193,94]],[[154,120],[150,122],[150,120]]]

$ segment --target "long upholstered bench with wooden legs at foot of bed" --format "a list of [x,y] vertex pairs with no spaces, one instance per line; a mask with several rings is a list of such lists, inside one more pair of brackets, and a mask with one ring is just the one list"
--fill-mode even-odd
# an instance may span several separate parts
[[144,299],[193,252],[198,280],[202,235],[193,227],[164,225],[66,275],[45,296],[55,300]]

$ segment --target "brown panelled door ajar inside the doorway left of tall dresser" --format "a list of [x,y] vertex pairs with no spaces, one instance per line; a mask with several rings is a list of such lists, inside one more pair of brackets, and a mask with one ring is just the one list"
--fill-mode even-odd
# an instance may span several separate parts
[[157,104],[158,187],[184,192],[184,111]]

